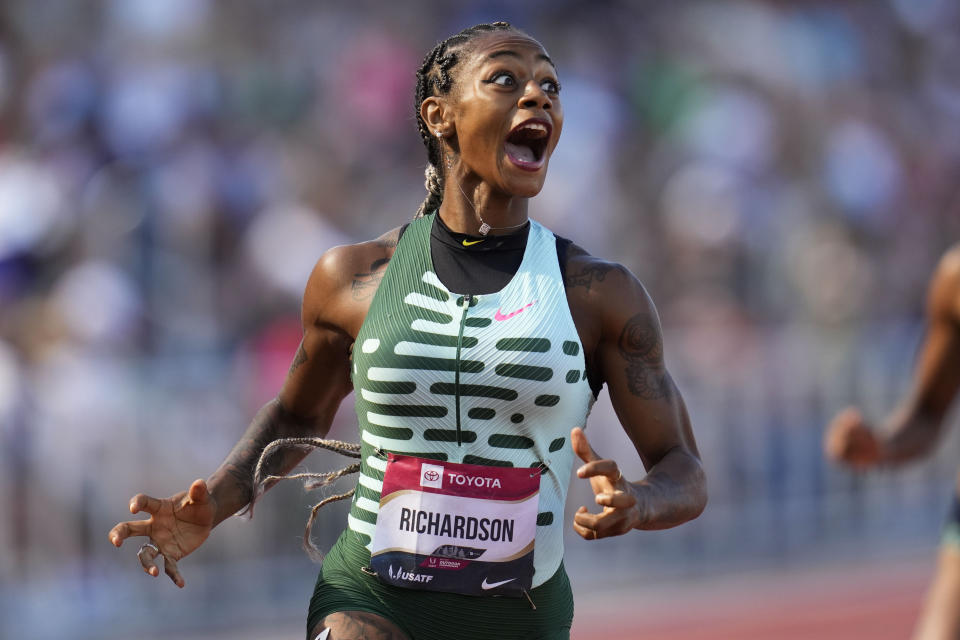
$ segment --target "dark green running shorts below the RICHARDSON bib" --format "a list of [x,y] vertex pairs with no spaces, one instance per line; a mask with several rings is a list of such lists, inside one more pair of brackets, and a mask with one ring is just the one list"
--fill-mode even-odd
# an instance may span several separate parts
[[[310,599],[307,633],[337,611],[366,611],[396,624],[410,640],[568,640],[573,592],[561,563],[526,598],[465,596],[386,585],[360,570],[370,553],[344,531],[323,561]],[[308,638],[308,640],[313,640]]]

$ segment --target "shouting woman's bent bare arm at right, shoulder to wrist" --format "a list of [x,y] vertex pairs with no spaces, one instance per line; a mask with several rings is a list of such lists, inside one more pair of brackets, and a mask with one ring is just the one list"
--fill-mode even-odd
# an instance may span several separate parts
[[629,270],[609,268],[598,283],[596,353],[613,408],[647,469],[645,478],[627,483],[636,498],[633,528],[666,529],[700,515],[706,476],[686,406],[664,363],[653,301]]

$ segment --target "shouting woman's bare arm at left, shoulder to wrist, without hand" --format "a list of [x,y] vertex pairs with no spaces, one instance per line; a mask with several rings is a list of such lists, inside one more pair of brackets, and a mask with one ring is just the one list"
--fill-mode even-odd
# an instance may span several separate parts
[[[326,436],[340,402],[350,392],[352,338],[345,319],[351,317],[354,263],[361,247],[336,247],[317,261],[303,296],[303,340],[280,393],[260,409],[207,480],[217,507],[214,526],[249,504],[254,468],[267,444],[278,438]],[[278,451],[266,471],[284,475],[305,455],[295,448]]]

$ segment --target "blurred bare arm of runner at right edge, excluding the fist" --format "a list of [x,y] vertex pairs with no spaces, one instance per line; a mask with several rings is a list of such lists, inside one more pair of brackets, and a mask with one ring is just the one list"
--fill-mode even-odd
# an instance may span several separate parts
[[878,434],[880,462],[905,462],[933,448],[960,389],[960,247],[934,272],[926,315],[912,388]]

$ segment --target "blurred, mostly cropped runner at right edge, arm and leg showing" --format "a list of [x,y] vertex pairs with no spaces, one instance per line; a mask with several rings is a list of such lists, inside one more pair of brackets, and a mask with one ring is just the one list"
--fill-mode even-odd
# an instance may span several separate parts
[[[913,389],[879,431],[857,409],[837,414],[824,440],[827,456],[866,469],[916,460],[934,449],[960,389],[960,245],[943,256],[930,280],[927,335],[913,377]],[[956,491],[915,640],[960,638],[960,476]]]

